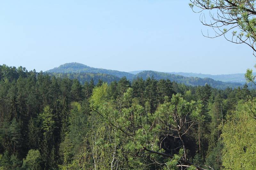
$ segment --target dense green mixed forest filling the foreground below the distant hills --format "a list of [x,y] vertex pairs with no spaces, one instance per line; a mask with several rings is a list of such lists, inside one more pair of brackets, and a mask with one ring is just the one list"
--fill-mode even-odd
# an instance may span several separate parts
[[2,65],[0,169],[253,169],[255,96],[246,84],[81,84]]

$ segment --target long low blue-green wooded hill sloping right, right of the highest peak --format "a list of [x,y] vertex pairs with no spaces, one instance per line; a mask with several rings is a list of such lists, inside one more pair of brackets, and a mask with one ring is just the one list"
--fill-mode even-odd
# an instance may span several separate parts
[[135,75],[135,77],[142,77],[144,80],[152,76],[156,80],[169,79],[171,81],[176,81],[178,83],[184,83],[186,85],[191,85],[191,86],[198,86],[198,85],[204,86],[206,83],[211,87],[218,88],[218,89],[226,89],[228,87],[237,88],[239,86],[242,86],[241,83],[222,82],[222,81],[213,80],[211,78],[185,77],[183,75],[169,74],[169,73],[156,72],[156,71],[142,71]]

